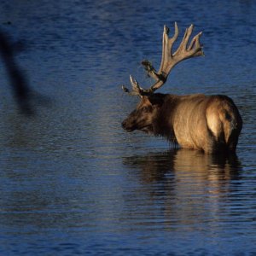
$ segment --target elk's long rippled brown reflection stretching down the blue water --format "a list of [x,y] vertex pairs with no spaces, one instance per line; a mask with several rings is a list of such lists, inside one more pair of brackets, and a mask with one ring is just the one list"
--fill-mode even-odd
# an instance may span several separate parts
[[184,148],[128,157],[124,164],[137,173],[143,186],[132,193],[143,191],[148,198],[145,204],[160,205],[168,227],[173,220],[182,225],[201,224],[209,218],[217,221],[225,211],[220,206],[229,204],[231,189],[237,189],[231,181],[239,179],[241,172],[235,154],[203,154]]

